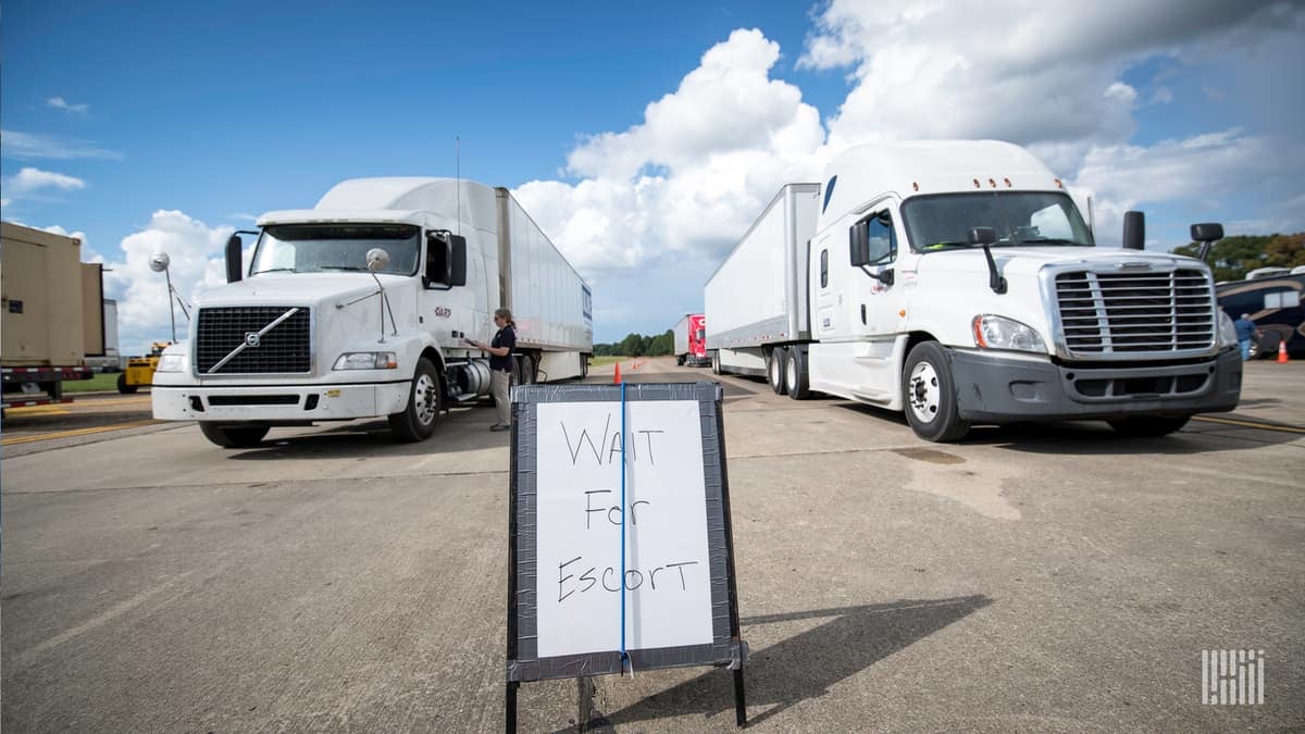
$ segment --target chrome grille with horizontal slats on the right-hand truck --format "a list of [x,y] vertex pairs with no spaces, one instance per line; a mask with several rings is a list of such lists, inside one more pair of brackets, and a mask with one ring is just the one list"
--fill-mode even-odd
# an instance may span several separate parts
[[1060,273],[1056,302],[1070,354],[1176,353],[1215,343],[1214,296],[1203,270]]

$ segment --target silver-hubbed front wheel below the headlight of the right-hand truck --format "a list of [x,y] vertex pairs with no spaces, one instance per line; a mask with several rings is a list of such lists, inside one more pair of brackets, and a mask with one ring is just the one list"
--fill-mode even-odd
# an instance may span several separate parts
[[902,370],[902,401],[911,430],[927,441],[954,441],[970,432],[957,406],[951,363],[938,342],[911,349]]

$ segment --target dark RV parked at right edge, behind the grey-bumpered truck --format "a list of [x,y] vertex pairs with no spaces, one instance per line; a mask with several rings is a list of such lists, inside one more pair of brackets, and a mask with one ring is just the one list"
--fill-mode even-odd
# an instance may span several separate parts
[[1255,274],[1251,270],[1244,281],[1219,283],[1219,307],[1232,319],[1248,313],[1259,327],[1259,338],[1250,343],[1251,359],[1278,355],[1278,345],[1287,343],[1292,357],[1305,357],[1305,273]]

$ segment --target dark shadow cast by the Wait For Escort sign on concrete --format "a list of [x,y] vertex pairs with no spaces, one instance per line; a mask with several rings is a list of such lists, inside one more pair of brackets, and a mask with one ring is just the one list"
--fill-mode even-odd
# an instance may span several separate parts
[[[749,627],[827,618],[818,627],[752,652],[752,657],[744,663],[748,705],[753,709],[757,705],[767,708],[750,716],[748,725],[766,721],[806,699],[822,696],[840,680],[990,603],[990,598],[977,594],[744,618],[740,620],[744,639],[748,639]],[[685,714],[726,714],[732,724],[732,712],[733,677],[724,670],[709,670],[634,705],[596,718],[590,726],[619,727]]]

